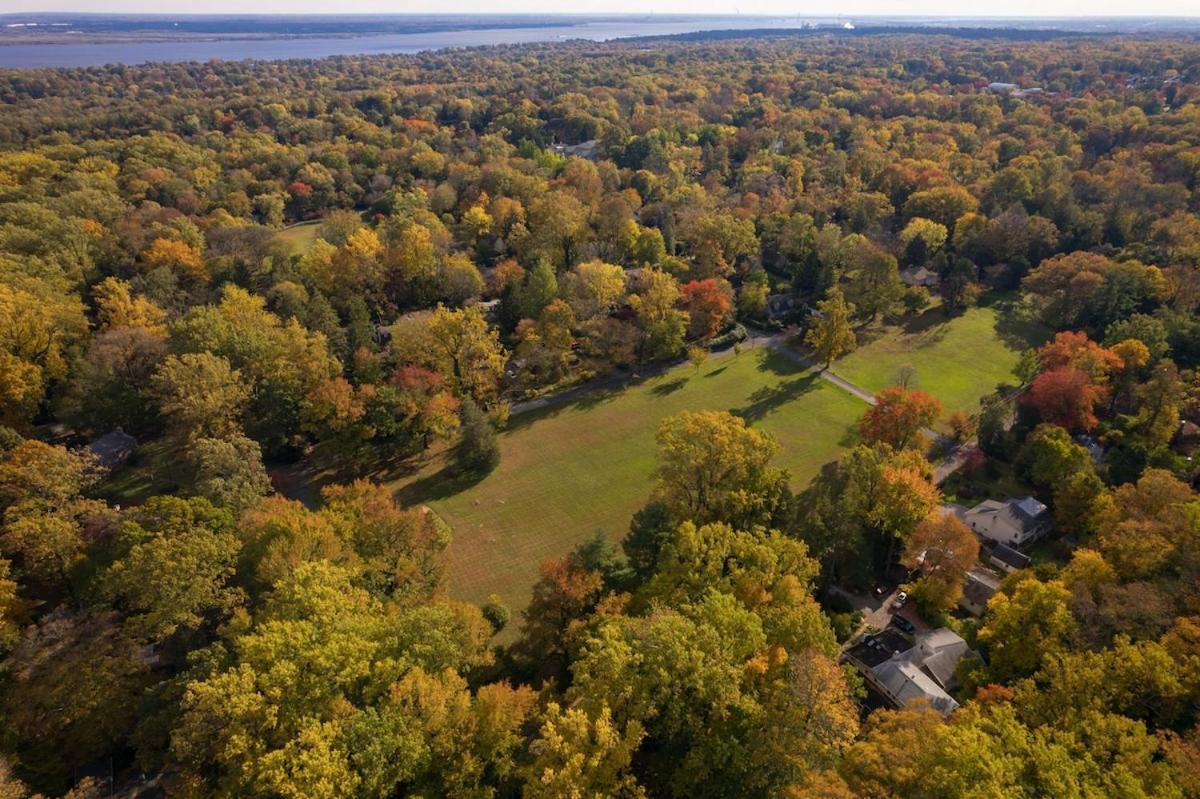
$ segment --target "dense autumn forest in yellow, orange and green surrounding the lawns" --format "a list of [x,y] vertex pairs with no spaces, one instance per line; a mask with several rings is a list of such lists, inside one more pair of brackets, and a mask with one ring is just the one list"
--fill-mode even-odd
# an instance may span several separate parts
[[[1200,797],[1196,41],[7,71],[0,107],[0,795]],[[452,597],[454,530],[384,485],[479,480],[592,379],[977,306],[1044,332],[977,410],[901,374],[799,488],[745,414],[672,415],[620,548],[524,608]],[[941,506],[997,486],[1055,529],[973,618]],[[948,715],[840,657],[901,564],[978,653]]]

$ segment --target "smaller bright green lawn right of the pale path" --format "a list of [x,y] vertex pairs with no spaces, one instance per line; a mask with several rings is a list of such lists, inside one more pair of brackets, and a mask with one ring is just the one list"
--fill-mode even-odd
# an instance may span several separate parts
[[860,334],[860,346],[833,366],[836,374],[868,391],[896,384],[901,367],[916,368],[912,385],[942,401],[946,415],[973,413],[979,398],[1001,383],[1015,383],[1013,367],[1027,347],[1048,332],[996,307],[947,317],[932,307],[898,325]]

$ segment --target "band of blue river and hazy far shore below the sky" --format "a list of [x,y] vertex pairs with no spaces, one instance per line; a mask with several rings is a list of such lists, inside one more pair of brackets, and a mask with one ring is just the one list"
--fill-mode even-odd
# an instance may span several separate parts
[[985,19],[662,14],[103,16],[0,14],[0,70],[412,55],[566,40],[706,41],[797,35],[964,38],[1200,36],[1200,18]]

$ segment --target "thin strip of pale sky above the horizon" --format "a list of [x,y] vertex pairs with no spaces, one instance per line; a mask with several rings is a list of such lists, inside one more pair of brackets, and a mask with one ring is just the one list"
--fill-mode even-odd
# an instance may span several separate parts
[[799,17],[1200,17],[1200,0],[0,0],[0,13],[703,13]]

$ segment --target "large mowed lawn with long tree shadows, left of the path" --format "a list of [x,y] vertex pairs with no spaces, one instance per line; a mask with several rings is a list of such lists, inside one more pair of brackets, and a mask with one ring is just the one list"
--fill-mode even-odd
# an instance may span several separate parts
[[451,594],[474,602],[499,594],[515,627],[542,560],[598,531],[623,537],[649,497],[665,416],[739,413],[779,440],[776,464],[800,488],[853,441],[865,407],[780,355],[748,349],[514,416],[499,437],[500,465],[474,485],[439,474],[442,457],[395,485],[406,506],[427,504],[454,528]]

